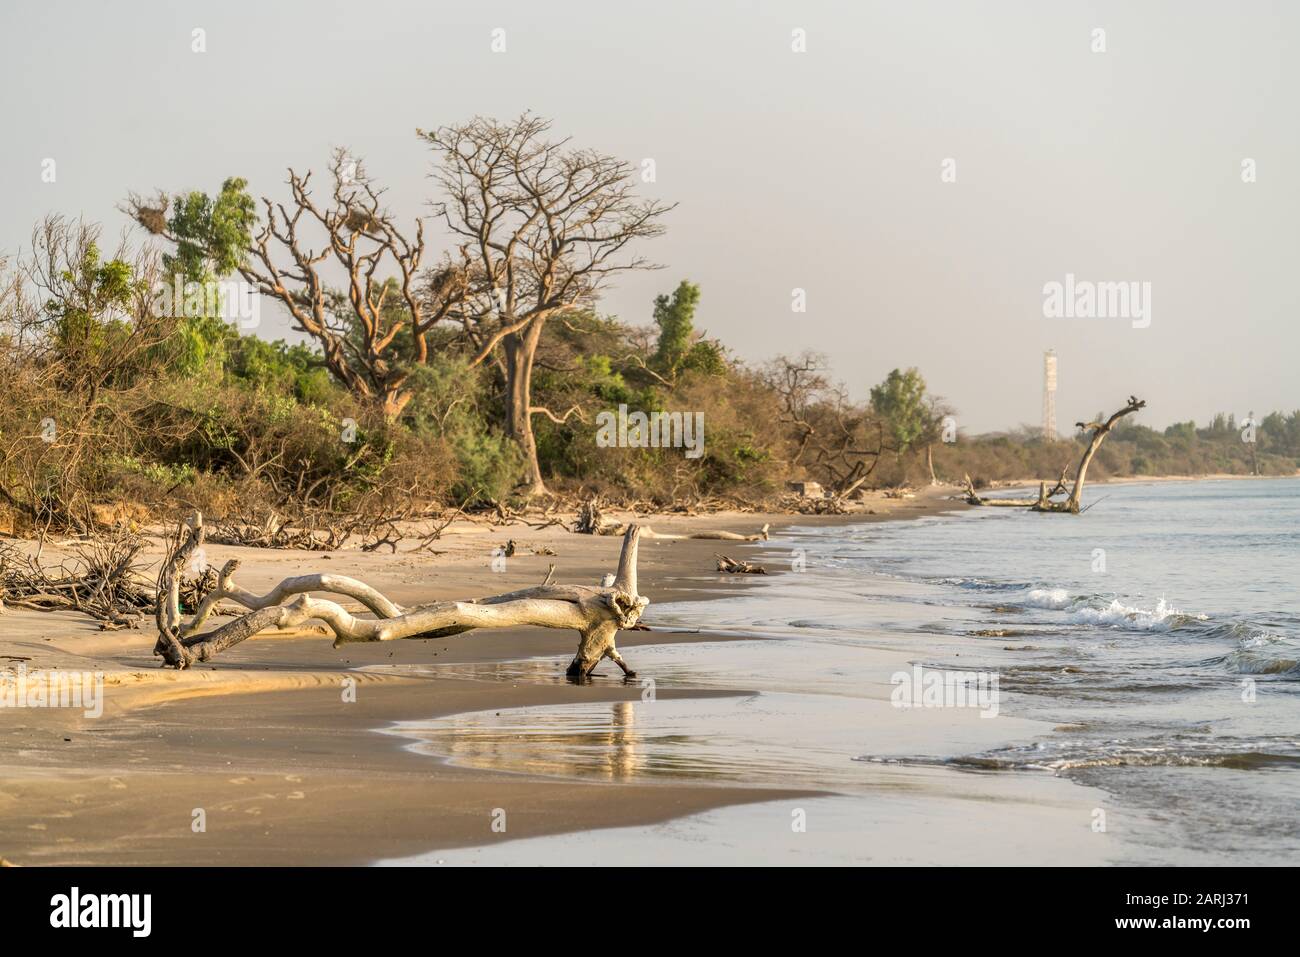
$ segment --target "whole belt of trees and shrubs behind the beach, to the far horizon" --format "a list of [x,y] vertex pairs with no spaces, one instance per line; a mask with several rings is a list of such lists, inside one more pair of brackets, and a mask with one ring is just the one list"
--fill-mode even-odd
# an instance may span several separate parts
[[[742,361],[708,334],[707,290],[688,280],[645,316],[607,315],[602,291],[654,268],[671,221],[671,205],[638,196],[632,164],[530,114],[419,137],[428,220],[390,209],[339,150],[318,190],[290,170],[285,191],[257,198],[234,176],[212,192],[129,195],[142,230],[113,244],[99,224],[38,224],[0,261],[0,532],[202,510],[337,544],[403,518],[597,498],[838,510],[872,488],[1052,478],[1088,445],[1089,429],[968,434],[914,368],[853,384],[868,397],[855,400],[824,356]],[[259,303],[289,319],[292,342],[259,335]],[[707,438],[610,441],[598,423],[621,408],[702,415]],[[1164,430],[1130,416],[1089,476],[1297,464],[1300,412]],[[790,482],[824,495],[809,506]]]

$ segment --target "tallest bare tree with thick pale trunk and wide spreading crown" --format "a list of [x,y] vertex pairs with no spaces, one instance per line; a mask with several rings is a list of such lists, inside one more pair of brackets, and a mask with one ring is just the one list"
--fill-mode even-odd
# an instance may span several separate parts
[[633,247],[663,233],[673,208],[636,195],[630,163],[551,139],[550,129],[525,113],[419,131],[446,194],[436,215],[459,243],[428,277],[428,309],[460,324],[472,365],[491,363],[500,374],[506,430],[524,452],[532,494],[546,492],[533,416],[564,420],[532,400],[546,322],[589,308],[618,273],[655,268]]

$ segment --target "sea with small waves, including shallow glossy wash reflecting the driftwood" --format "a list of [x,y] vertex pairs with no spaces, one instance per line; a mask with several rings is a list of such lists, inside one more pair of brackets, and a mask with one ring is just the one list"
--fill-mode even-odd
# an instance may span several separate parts
[[[1300,862],[1300,481],[1102,486],[1088,503],[792,528],[757,555],[783,573],[650,607],[655,627],[754,638],[625,651],[654,688],[746,696],[391,731],[480,767],[838,796],[824,813],[809,802],[820,845],[748,837],[788,830],[777,804],[456,852],[469,862],[588,846],[650,862],[710,846],[740,862]],[[452,668],[563,681],[566,663]],[[996,676],[996,716],[942,698],[897,707],[915,668]]]

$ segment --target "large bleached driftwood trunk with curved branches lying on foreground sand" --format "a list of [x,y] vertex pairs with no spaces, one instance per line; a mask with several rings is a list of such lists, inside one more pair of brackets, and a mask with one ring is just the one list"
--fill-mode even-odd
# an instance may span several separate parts
[[[632,628],[650,603],[637,593],[637,541],[641,529],[629,525],[623,536],[618,572],[606,576],[608,584],[556,585],[550,575],[536,588],[471,601],[434,602],[403,609],[364,581],[342,575],[303,575],[281,581],[264,596],[254,594],[233,581],[238,562],[228,562],[217,576],[216,588],[199,602],[186,622],[181,614],[181,570],[203,544],[203,518],[196,515],[179,534],[159,575],[156,610],[159,640],[153,654],[173,668],[205,662],[226,649],[270,628],[294,628],[311,620],[324,622],[334,633],[334,646],[354,641],[393,641],[395,638],[439,638],[476,628],[572,628],[578,633],[577,653],[568,667],[569,677],[585,679],[602,659],[608,658],[628,677],[628,667],[615,646],[620,628]],[[552,568],[554,571],[554,568]],[[352,598],[374,618],[356,618],[338,602],[309,593]],[[234,620],[199,632],[221,601],[248,609]]]

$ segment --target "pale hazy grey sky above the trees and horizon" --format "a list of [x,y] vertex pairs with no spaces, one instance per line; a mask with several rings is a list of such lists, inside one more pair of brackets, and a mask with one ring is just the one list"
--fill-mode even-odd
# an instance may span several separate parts
[[[47,212],[116,233],[129,190],[238,174],[282,196],[285,168],[324,170],[332,146],[426,215],[415,127],[532,109],[653,157],[645,191],[681,204],[644,248],[667,268],[606,296],[624,320],[690,278],[699,324],[744,359],[824,351],[859,398],[919,365],[976,432],[1039,419],[1048,347],[1062,423],[1131,391],[1157,426],[1290,410],[1297,27],[1300,4],[1249,0],[5,0],[0,250]],[[1045,319],[1066,273],[1149,282],[1150,325]]]

